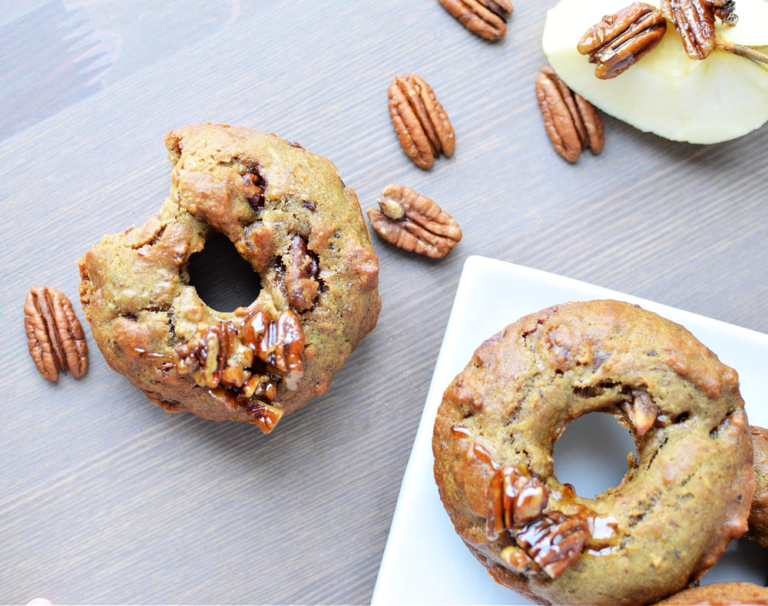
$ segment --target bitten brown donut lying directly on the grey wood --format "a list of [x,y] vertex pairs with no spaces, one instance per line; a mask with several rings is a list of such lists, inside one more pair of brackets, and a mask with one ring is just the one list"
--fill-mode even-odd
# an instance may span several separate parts
[[[268,433],[324,394],[376,325],[379,266],[360,205],[329,160],[274,135],[200,124],[165,144],[170,195],[78,261],[83,309],[109,366],[150,401]],[[261,280],[233,313],[189,283],[190,257],[216,232]]]

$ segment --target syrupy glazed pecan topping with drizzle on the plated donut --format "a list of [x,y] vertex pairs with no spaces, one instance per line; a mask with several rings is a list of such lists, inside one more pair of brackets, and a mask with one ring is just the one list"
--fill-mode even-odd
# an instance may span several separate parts
[[[460,425],[451,428],[455,439],[471,440],[471,432]],[[541,478],[530,470],[494,462],[487,448],[474,440],[467,450],[468,462],[477,459],[494,470],[488,490],[488,514],[485,533],[489,541],[497,541],[504,531],[509,532],[516,546],[502,550],[507,565],[520,574],[543,571],[556,579],[575,562],[591,539],[609,539],[617,525],[616,518],[598,518],[587,507],[578,506],[578,512],[566,515],[561,511],[548,511],[549,492]],[[575,496],[570,485],[566,491]],[[558,495],[568,498],[566,495]],[[610,550],[611,548],[607,548]],[[602,555],[606,548],[590,550]]]

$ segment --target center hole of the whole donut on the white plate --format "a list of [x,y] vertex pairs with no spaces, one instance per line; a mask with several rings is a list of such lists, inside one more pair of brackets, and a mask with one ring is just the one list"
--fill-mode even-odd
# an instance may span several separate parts
[[555,474],[579,496],[593,499],[621,482],[628,453],[637,459],[631,433],[613,415],[587,414],[569,423],[555,443]]

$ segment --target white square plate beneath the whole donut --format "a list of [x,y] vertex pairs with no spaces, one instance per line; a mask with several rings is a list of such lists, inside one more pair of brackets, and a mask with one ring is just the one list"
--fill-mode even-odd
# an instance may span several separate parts
[[[684,325],[741,379],[750,423],[768,427],[768,335],[545,272],[470,257],[437,359],[416,442],[405,471],[372,603],[530,604],[496,585],[453,530],[432,475],[432,427],[443,391],[488,337],[518,318],[566,301],[619,299]],[[601,415],[602,416],[602,415]],[[626,462],[621,462],[626,471]],[[558,467],[558,473],[560,473]],[[623,472],[622,472],[623,474]],[[619,476],[621,477],[621,476]],[[702,583],[768,579],[765,550],[731,543]]]

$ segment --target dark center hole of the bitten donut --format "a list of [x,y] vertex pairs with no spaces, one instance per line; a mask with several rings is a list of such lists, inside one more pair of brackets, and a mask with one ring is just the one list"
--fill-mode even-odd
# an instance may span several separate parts
[[188,270],[189,283],[216,311],[248,307],[261,292],[261,277],[223,234],[212,235],[205,248],[189,258]]

